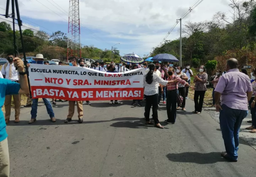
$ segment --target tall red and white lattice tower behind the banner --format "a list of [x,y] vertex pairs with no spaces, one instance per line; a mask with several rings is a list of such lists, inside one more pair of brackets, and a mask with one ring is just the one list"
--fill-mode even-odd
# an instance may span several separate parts
[[79,0],[69,0],[67,62],[71,56],[81,58]]

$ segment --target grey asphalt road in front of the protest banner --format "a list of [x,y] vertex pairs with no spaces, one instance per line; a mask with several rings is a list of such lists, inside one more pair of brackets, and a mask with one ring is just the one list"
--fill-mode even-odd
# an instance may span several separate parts
[[[158,114],[165,129],[145,126],[144,107],[92,102],[84,105],[84,122],[64,124],[68,102],[53,105],[57,122],[49,121],[42,102],[34,124],[31,108],[21,122],[10,122],[11,177],[255,177],[256,151],[240,140],[239,161],[227,162],[218,122],[206,112],[178,111],[166,125],[165,105]],[[144,103],[143,103],[144,104]],[[12,114],[12,117],[14,114]]]

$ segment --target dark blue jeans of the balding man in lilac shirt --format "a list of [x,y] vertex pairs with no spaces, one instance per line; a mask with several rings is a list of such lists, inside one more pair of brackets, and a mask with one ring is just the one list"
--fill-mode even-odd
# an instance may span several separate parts
[[238,159],[239,130],[247,110],[232,109],[222,104],[219,120],[226,153],[233,160]]

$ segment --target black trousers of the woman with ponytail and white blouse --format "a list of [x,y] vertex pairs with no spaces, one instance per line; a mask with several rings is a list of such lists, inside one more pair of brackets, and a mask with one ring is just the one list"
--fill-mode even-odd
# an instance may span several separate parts
[[155,121],[155,124],[159,124],[159,120],[158,120],[158,93],[156,93],[155,95],[145,95],[146,98],[146,104],[145,104],[145,118],[146,121],[149,122],[149,114],[150,114],[150,109],[151,109],[151,105],[153,105],[152,107],[152,112],[153,112],[153,120]]

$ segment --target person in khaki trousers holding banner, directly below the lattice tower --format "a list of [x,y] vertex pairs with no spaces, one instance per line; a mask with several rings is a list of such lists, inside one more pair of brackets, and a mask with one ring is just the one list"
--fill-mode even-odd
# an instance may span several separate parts
[[[79,67],[77,64],[76,57],[70,57],[69,63],[72,63],[74,67]],[[68,114],[66,120],[64,121],[65,123],[72,121],[72,117],[75,113],[75,103],[76,103],[77,110],[78,110],[78,122],[79,123],[83,122],[83,120],[82,120],[82,117],[83,117],[82,101],[69,101],[69,114]]]

